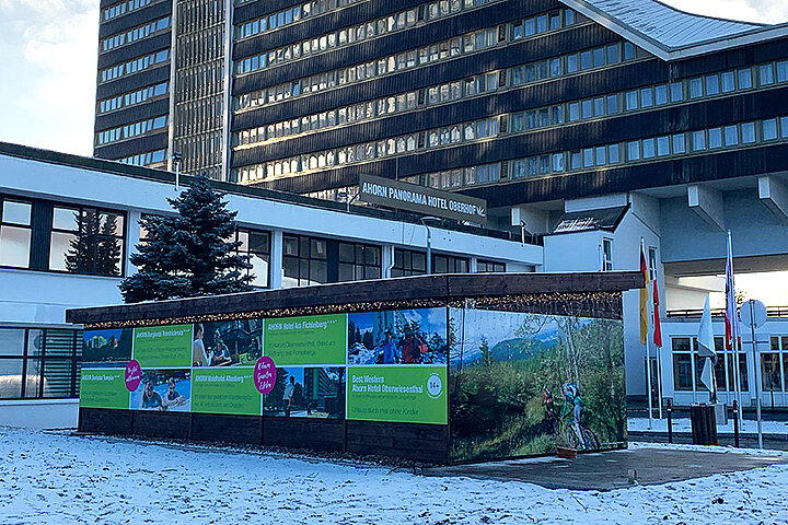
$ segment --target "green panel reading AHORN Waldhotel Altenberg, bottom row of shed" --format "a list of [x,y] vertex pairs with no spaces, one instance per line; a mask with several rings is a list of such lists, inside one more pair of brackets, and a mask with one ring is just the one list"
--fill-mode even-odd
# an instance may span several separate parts
[[193,369],[192,411],[259,416],[253,368]]

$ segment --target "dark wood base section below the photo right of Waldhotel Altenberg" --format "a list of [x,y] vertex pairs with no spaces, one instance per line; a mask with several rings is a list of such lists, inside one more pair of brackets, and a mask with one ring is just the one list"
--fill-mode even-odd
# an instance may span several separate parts
[[263,444],[313,451],[345,451],[345,421],[337,419],[263,418]]

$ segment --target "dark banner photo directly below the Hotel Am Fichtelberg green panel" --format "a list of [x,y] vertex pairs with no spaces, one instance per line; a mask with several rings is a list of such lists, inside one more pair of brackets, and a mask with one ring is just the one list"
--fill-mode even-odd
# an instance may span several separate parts
[[345,369],[277,368],[277,381],[265,396],[265,415],[285,418],[339,419],[345,416]]

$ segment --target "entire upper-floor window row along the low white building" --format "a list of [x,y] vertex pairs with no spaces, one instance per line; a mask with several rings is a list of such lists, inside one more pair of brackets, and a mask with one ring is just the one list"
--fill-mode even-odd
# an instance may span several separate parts
[[[34,206],[44,206],[48,213],[35,213]],[[80,206],[50,206],[44,201],[0,198],[0,266],[72,273],[116,276],[124,271],[125,214]],[[46,221],[46,222],[42,222]],[[49,237],[48,245],[33,245],[33,233]],[[39,235],[39,234],[37,234]],[[140,242],[148,235],[140,229]],[[250,256],[255,287],[267,288],[270,275],[270,233],[236,228],[232,241],[239,242],[237,253]],[[286,234],[283,236],[282,285],[379,279],[382,275],[380,246],[328,238]],[[48,252],[48,253],[44,253]],[[48,265],[40,260],[48,258]],[[37,264],[32,264],[39,260]],[[437,273],[467,272],[468,259],[433,254]],[[425,254],[404,248],[394,249],[394,277],[425,273]],[[477,271],[506,271],[506,265],[479,260]],[[0,349],[0,353],[2,353]]]

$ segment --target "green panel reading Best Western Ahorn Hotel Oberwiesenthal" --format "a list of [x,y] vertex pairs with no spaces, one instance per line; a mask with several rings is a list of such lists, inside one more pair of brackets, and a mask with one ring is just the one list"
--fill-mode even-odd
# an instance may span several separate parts
[[347,419],[448,423],[445,366],[351,366]]

